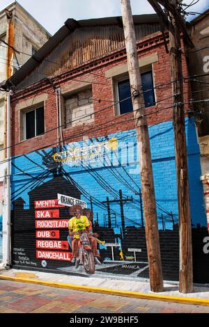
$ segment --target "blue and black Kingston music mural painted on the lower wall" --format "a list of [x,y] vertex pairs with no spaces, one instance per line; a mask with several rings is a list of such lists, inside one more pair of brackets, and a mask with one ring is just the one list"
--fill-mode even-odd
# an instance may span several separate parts
[[[195,138],[189,124],[188,120],[187,131]],[[164,279],[178,280],[178,203],[171,122],[151,126],[150,143]],[[195,207],[201,198],[199,167],[195,161],[195,170],[193,162],[199,152],[194,143],[191,149],[188,161],[192,181],[196,175],[196,190],[199,188],[198,193],[190,194]],[[36,150],[14,157],[12,167],[13,266],[86,276],[84,264],[73,260],[75,234],[69,237],[68,231],[69,220],[79,207],[80,216],[91,221],[94,245],[90,241],[89,246],[101,263],[95,264],[93,273],[148,277],[134,130]],[[195,210],[192,212],[194,227],[197,223],[204,226],[204,212],[199,212],[198,221]]]

